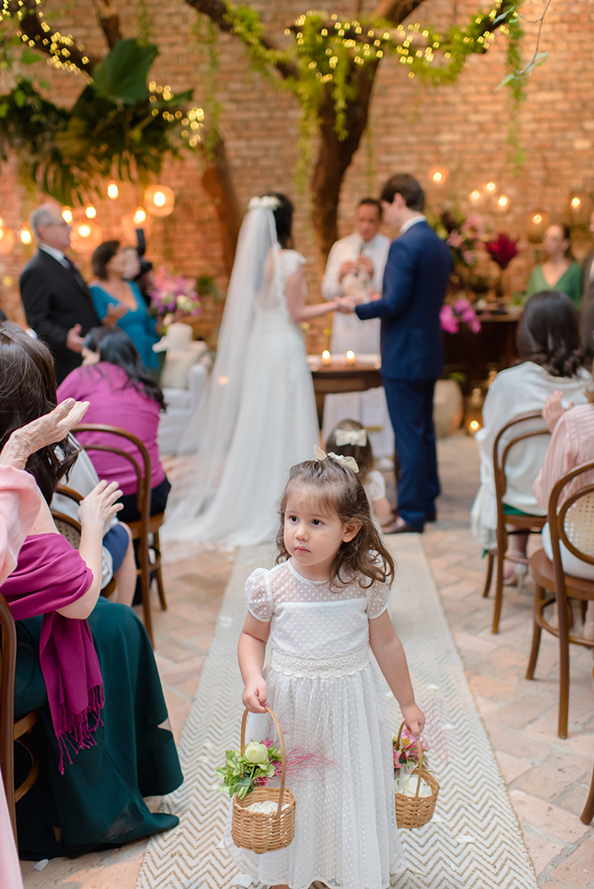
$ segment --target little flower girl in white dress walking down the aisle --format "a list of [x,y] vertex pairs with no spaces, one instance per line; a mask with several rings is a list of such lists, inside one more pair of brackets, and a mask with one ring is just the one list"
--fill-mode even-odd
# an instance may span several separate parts
[[[246,583],[249,614],[238,656],[245,706],[260,714],[268,703],[287,749],[322,765],[292,783],[291,845],[261,855],[233,845],[229,835],[225,845],[266,885],[308,889],[319,880],[329,889],[387,889],[406,863],[387,701],[370,648],[415,737],[424,717],[387,611],[394,562],[373,525],[357,463],[316,450],[322,459],[291,469],[277,565],[257,569]],[[268,719],[250,716],[246,737],[266,738]]]

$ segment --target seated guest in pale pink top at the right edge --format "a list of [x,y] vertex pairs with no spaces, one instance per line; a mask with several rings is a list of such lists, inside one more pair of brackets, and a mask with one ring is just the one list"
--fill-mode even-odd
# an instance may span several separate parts
[[[586,396],[588,404],[580,404],[579,407],[570,404],[569,409],[564,411],[561,406],[561,393],[557,391],[552,398],[547,398],[542,411],[552,437],[544,464],[534,482],[533,491],[538,505],[544,512],[549,508],[550,492],[559,478],[580,463],[594,460],[594,390],[588,389]],[[574,481],[564,488],[558,501],[559,507],[563,506],[574,493],[586,485],[591,485],[592,482],[594,482],[592,472],[584,472],[574,478]],[[542,549],[552,560],[549,523],[542,529]],[[570,553],[563,543],[561,543],[561,562],[566,573],[594,581],[594,565],[582,562]],[[594,602],[588,603],[582,636],[594,639]]]

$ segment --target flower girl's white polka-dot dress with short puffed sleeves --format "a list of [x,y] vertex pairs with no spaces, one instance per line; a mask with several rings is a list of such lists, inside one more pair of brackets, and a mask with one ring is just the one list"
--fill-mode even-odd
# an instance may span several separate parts
[[[288,751],[317,757],[313,773],[289,786],[297,798],[293,843],[256,855],[225,846],[237,865],[266,885],[309,889],[386,889],[405,856],[397,836],[392,726],[369,660],[369,620],[388,605],[389,587],[354,581],[333,592],[308,581],[292,563],[248,578],[245,596],[259,621],[270,621],[271,657],[264,677]],[[250,716],[246,737],[273,737],[267,716]]]

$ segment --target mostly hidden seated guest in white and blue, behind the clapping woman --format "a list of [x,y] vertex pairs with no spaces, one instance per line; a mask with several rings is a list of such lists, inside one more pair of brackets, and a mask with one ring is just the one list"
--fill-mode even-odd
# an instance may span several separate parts
[[[75,443],[76,438],[72,436]],[[60,478],[60,485],[68,485],[73,491],[86,497],[97,487],[100,477],[92,465],[91,458],[86,451],[80,451],[76,457],[76,463],[70,469],[68,478]],[[52,509],[63,515],[78,520],[78,506],[76,501],[64,494],[55,493],[52,497]],[[112,577],[116,581],[116,589],[111,597],[112,602],[123,602],[124,605],[132,605],[134,589],[136,588],[136,563],[134,562],[134,549],[132,547],[132,532],[124,522],[118,522],[117,517],[112,517],[103,529],[103,576],[101,579],[101,592],[106,588]]]

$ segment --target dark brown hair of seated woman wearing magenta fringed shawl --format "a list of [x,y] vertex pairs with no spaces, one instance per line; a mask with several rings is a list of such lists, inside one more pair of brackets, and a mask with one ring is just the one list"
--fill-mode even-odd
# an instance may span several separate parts
[[[16,324],[0,326],[0,450],[15,429],[49,413],[57,403],[56,375],[49,348]],[[29,457],[25,469],[35,478],[48,503],[60,478],[68,475],[76,462],[78,452],[67,436]]]

